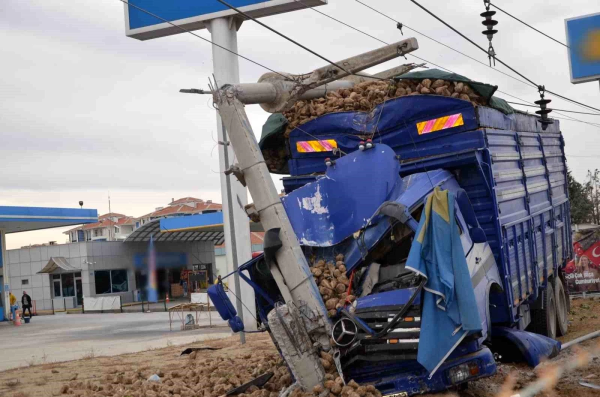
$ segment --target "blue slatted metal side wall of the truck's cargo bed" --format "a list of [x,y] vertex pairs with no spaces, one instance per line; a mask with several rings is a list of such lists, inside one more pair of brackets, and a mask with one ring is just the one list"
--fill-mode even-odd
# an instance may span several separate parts
[[505,242],[503,270],[516,308],[535,299],[538,287],[556,275],[570,254],[563,248],[569,246],[570,237],[565,227],[569,212],[563,141],[560,133],[551,132],[559,131],[559,126],[541,132],[532,116],[511,116],[505,116],[511,119],[508,125],[524,131],[484,131]]

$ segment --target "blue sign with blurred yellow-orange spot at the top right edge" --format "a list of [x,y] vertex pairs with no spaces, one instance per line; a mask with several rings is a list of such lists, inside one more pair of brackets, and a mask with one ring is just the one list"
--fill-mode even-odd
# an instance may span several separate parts
[[600,13],[565,19],[571,83],[600,80]]

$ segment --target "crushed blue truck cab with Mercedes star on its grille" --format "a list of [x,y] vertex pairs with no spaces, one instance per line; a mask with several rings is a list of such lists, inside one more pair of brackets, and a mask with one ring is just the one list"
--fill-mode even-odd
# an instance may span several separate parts
[[[380,172],[373,173],[374,169]],[[472,216],[471,204],[454,176],[445,170],[401,178],[400,169],[395,152],[389,146],[375,144],[338,159],[324,176],[282,198],[305,255],[334,258],[343,254],[347,272],[354,275],[356,291],[360,292],[352,305],[334,317],[331,336],[340,350],[344,375],[359,383],[373,383],[384,393],[413,394],[444,390],[494,374],[493,354],[482,342],[491,327],[487,292],[501,281],[487,241],[480,234],[473,242],[471,230],[479,230],[478,225],[470,227],[463,215],[464,211]],[[404,269],[404,263],[424,200],[435,187],[464,197],[457,200],[455,213],[482,331],[467,335],[430,378],[416,361],[421,330],[421,291],[417,289],[421,278]],[[394,216],[377,213],[387,206],[393,207]],[[383,212],[390,213],[385,209]],[[267,269],[263,256],[242,266],[257,291],[260,318],[265,324],[272,310],[268,302],[278,300]],[[403,318],[391,323],[415,292]],[[377,335],[385,327],[389,327],[385,335]]]

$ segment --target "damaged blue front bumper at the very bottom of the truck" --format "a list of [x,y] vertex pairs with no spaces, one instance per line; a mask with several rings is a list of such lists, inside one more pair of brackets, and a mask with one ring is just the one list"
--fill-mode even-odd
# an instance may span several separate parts
[[472,375],[460,383],[496,374],[494,356],[490,349],[484,347],[474,353],[446,360],[437,369],[431,379],[428,379],[427,370],[413,360],[398,363],[396,368],[394,368],[395,365],[393,363],[388,363],[385,365],[385,368],[382,366],[379,369],[375,365],[368,366],[368,368],[365,368],[367,372],[352,371],[352,378],[358,383],[373,384],[384,396],[396,393],[406,393],[406,395],[412,396],[422,393],[441,392],[457,386],[460,383],[452,383],[448,370],[463,363],[474,363],[479,371],[478,374]]

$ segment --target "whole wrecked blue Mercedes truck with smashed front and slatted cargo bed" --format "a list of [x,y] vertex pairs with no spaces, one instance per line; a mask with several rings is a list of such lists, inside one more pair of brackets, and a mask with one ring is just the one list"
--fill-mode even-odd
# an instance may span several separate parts
[[[499,103],[491,96],[489,102]],[[281,202],[302,253],[308,263],[343,255],[356,296],[332,317],[331,343],[344,379],[408,396],[491,376],[497,353],[532,365],[557,353],[548,341],[567,331],[562,269],[572,257],[559,122],[542,124],[506,106],[411,95],[370,113],[319,116],[280,142],[290,175]],[[419,338],[427,326],[424,279],[405,265],[425,200],[438,188],[455,198],[481,329],[464,332],[428,371],[417,361],[420,348],[436,345]],[[269,332],[277,322],[269,313],[286,300],[271,272],[281,246],[269,238],[272,231],[265,253],[238,271],[254,288],[259,321]],[[232,329],[242,330],[223,291],[209,294]]]

